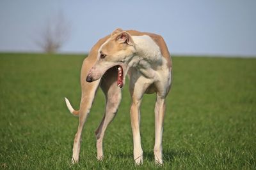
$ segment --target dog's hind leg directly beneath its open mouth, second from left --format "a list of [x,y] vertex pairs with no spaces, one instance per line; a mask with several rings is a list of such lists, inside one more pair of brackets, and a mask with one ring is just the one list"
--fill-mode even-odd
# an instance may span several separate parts
[[97,159],[102,160],[103,158],[103,138],[105,131],[115,118],[118,106],[120,104],[122,93],[120,87],[116,86],[116,71],[112,68],[104,74],[100,87],[102,88],[106,96],[106,110],[102,121],[95,131],[95,136],[97,140]]

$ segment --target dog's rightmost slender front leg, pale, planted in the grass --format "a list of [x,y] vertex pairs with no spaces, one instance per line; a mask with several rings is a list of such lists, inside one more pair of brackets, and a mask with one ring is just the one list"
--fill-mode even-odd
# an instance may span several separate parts
[[155,146],[154,155],[156,164],[163,164],[162,153],[162,137],[163,137],[163,120],[165,112],[164,97],[157,94],[156,106],[155,106]]

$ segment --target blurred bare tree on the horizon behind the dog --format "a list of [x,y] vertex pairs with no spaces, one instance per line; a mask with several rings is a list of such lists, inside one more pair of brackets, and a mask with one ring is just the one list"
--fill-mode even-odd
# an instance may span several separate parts
[[47,20],[39,36],[36,45],[46,53],[55,53],[67,42],[70,36],[70,24],[62,13],[59,13],[56,18]]

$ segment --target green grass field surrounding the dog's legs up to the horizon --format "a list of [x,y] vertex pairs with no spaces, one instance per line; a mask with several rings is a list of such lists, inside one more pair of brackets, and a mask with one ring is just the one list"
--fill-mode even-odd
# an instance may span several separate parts
[[164,117],[164,166],[154,164],[154,95],[141,106],[144,164],[135,166],[127,84],[96,159],[94,131],[104,113],[99,90],[72,165],[84,56],[0,54],[0,169],[255,169],[256,59],[173,57]]

